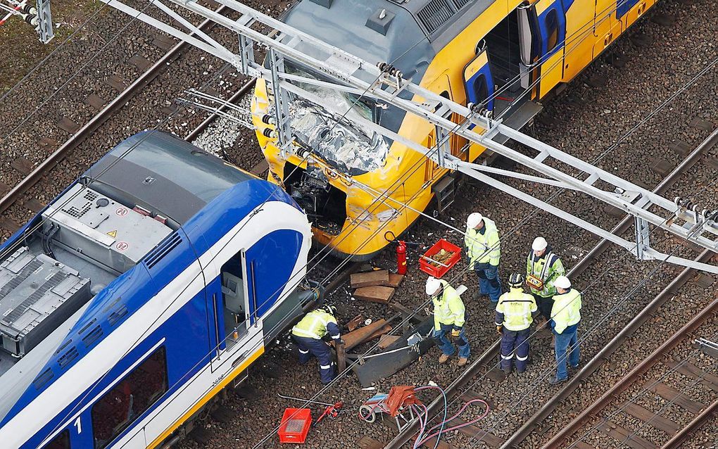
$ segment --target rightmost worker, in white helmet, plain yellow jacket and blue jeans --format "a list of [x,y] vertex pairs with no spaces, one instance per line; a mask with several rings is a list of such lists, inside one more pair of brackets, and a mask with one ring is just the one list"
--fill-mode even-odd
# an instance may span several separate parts
[[556,335],[556,376],[549,384],[560,384],[569,378],[566,370],[566,353],[572,369],[579,367],[579,341],[577,329],[581,321],[581,294],[571,288],[568,277],[559,276],[554,282],[554,308],[551,310],[551,328]]

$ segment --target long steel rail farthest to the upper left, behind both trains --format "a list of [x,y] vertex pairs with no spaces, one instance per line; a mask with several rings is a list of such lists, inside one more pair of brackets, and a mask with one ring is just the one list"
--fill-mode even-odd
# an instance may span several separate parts
[[[216,9],[216,12],[221,13],[226,7],[220,6]],[[210,19],[200,24],[201,30],[211,28],[215,23]],[[42,179],[47,172],[50,172],[52,168],[56,167],[57,164],[67,156],[67,154],[73,149],[77,148],[80,144],[85,142],[89,136],[93,134],[102,124],[110,119],[113,114],[119,111],[125,104],[136,96],[141,90],[150,83],[151,80],[157,78],[157,75],[167,68],[169,63],[172,63],[180,53],[187,48],[189,44],[185,41],[178,42],[174,45],[164,56],[162,56],[156,63],[151,65],[144,73],[139,75],[134,82],[125,88],[124,91],[118,94],[113,101],[108,103],[102,111],[98,112],[88,121],[82,128],[80,128],[70,139],[67,139],[59,148],[52,152],[50,156],[42,161],[37,167],[32,170],[26,177],[24,177],[14,188],[0,199],[0,213],[4,213],[11,205],[13,205],[22,195],[27,193],[39,180]]]

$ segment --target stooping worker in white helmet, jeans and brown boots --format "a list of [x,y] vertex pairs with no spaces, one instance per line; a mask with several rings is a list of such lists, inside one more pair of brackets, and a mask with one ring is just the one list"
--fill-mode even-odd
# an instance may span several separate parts
[[[434,302],[434,340],[442,350],[439,364],[445,364],[454,353],[454,345],[459,347],[459,366],[469,360],[471,351],[466,339],[464,323],[466,311],[464,302],[454,288],[442,279],[429,277],[426,279],[426,295]],[[451,335],[452,340],[447,338]],[[453,342],[453,343],[452,343]]]

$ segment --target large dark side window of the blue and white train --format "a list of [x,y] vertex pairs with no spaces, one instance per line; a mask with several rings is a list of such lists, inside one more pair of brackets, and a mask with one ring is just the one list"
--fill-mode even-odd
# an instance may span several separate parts
[[154,351],[92,407],[95,449],[105,448],[167,392],[167,355]]

